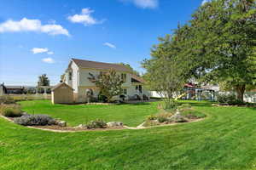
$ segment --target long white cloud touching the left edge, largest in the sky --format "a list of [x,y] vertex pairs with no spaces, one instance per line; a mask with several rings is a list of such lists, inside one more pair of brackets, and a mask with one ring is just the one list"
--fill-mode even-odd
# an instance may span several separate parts
[[2,32],[20,32],[20,31],[36,31],[43,32],[49,35],[65,35],[69,36],[67,29],[61,25],[48,24],[42,25],[40,20],[7,20],[0,24],[0,33]]

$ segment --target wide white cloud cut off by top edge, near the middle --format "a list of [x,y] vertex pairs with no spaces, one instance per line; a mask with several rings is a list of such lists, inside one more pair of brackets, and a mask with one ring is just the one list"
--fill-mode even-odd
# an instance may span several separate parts
[[120,0],[120,1],[133,3],[138,8],[157,8],[159,5],[159,0]]

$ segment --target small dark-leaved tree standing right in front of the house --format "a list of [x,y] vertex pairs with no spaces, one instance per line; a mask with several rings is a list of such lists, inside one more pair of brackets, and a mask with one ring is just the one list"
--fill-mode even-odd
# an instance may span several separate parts
[[90,82],[94,82],[96,87],[100,89],[100,93],[107,97],[108,102],[111,101],[113,96],[121,94],[121,86],[124,83],[113,69],[102,72],[98,76],[94,76],[91,73],[88,79]]

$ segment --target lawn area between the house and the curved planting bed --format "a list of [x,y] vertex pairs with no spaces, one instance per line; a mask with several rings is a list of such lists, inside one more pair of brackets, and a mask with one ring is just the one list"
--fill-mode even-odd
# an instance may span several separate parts
[[124,122],[125,125],[137,126],[145,117],[157,112],[157,103],[134,105],[52,105],[49,100],[20,102],[27,113],[47,114],[61,118],[70,126],[77,126],[91,120],[102,119],[106,122]]

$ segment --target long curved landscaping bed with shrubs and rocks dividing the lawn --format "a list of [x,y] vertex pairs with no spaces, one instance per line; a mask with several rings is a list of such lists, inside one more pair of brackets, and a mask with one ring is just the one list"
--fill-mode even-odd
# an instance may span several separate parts
[[96,119],[78,126],[67,126],[67,122],[58,118],[53,118],[44,114],[28,114],[21,111],[20,105],[0,105],[0,111],[5,118],[16,124],[39,128],[49,131],[72,132],[72,131],[92,131],[92,130],[113,130],[113,129],[142,129],[146,127],[172,125],[184,122],[195,122],[205,115],[195,111],[191,105],[181,105],[175,111],[160,110],[157,115],[146,117],[146,121],[137,127],[125,126],[123,122],[104,122],[102,119]]

